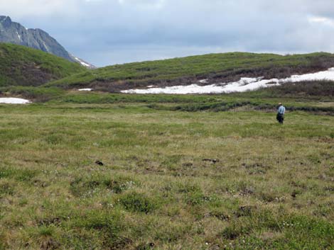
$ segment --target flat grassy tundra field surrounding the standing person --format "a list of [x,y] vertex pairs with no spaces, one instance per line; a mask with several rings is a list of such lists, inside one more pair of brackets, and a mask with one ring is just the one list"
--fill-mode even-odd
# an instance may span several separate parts
[[334,249],[333,115],[252,95],[0,105],[0,249]]

